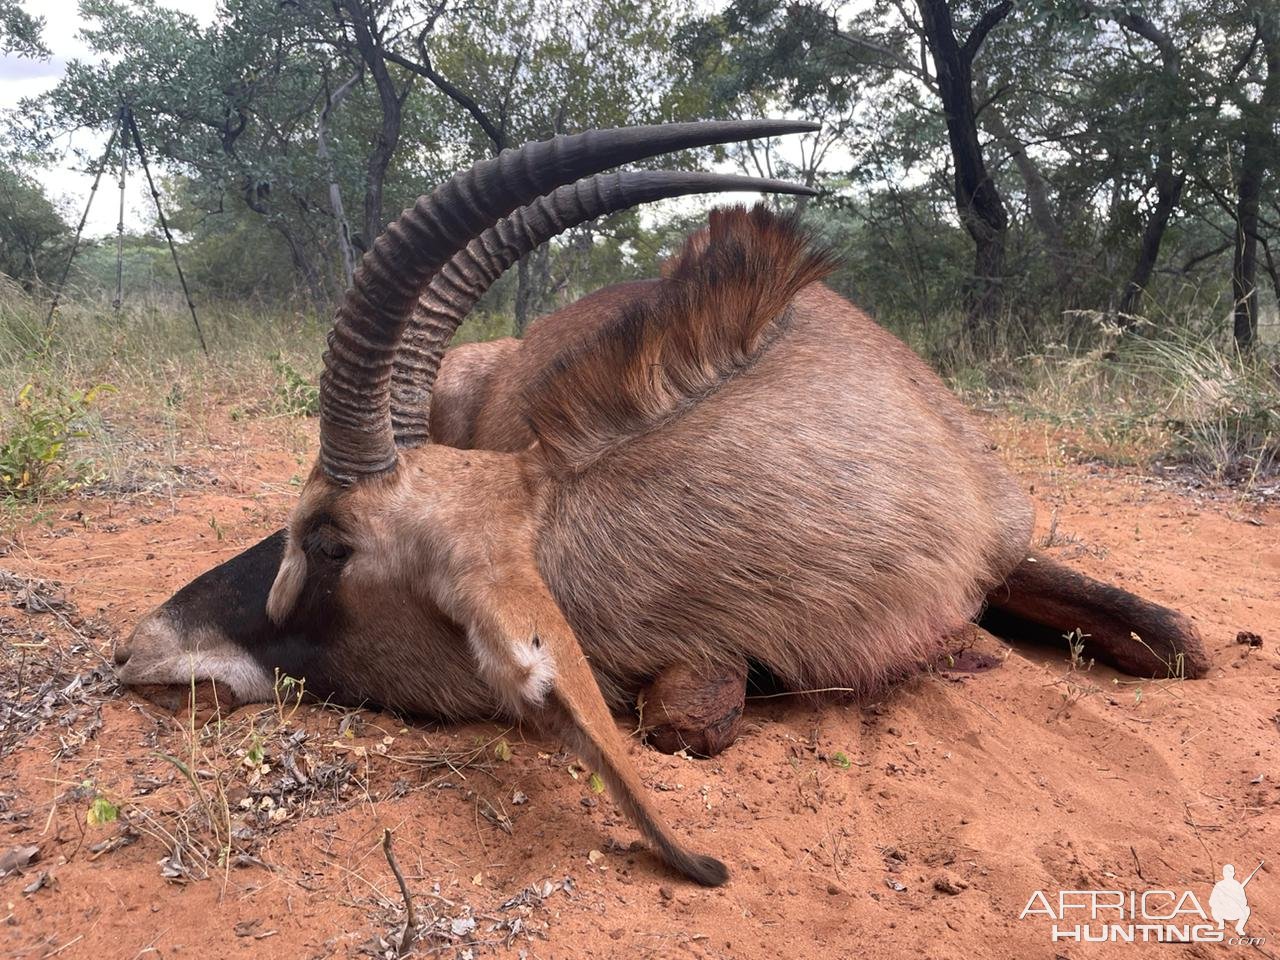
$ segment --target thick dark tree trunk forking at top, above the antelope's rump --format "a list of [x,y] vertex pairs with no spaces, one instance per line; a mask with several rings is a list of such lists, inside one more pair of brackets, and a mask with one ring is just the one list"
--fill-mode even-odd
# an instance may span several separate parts
[[916,0],[929,52],[937,73],[938,97],[947,122],[947,140],[955,164],[956,212],[974,243],[969,333],[995,342],[995,324],[1004,300],[1005,234],[1009,215],[996,188],[982,145],[973,104],[973,59],[987,33],[1012,8],[1002,3],[982,15],[961,45],[947,0]]

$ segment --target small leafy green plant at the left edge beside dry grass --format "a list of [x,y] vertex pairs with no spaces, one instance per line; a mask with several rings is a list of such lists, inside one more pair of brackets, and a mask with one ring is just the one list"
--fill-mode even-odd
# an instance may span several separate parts
[[90,483],[92,463],[68,460],[68,444],[88,436],[90,411],[110,389],[74,390],[28,381],[0,435],[0,498],[38,499]]

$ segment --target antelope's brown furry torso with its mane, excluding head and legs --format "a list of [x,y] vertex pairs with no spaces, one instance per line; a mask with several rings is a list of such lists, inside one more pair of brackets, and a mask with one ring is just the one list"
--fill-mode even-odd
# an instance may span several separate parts
[[[500,347],[467,444],[538,440],[539,568],[616,709],[677,662],[870,690],[932,659],[1030,539],[970,415],[815,282],[820,259],[745,216],[722,229],[758,246],[691,248],[666,284],[600,291]],[[440,406],[466,393],[451,367]]]

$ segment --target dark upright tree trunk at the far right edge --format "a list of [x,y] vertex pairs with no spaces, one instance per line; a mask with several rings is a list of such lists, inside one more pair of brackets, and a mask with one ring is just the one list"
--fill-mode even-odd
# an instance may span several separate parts
[[1275,152],[1275,124],[1280,119],[1280,24],[1275,20],[1274,14],[1260,20],[1267,81],[1253,109],[1242,110],[1244,137],[1236,179],[1235,256],[1231,261],[1233,333],[1242,351],[1252,349],[1258,338],[1258,206],[1267,163]]

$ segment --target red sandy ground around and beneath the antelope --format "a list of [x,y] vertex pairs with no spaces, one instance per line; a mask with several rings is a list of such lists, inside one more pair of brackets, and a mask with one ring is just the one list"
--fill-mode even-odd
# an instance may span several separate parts
[[[1019,914],[1037,890],[1189,888],[1208,909],[1222,864],[1243,876],[1263,858],[1248,933],[1266,943],[1225,950],[1280,956],[1280,507],[1068,462],[1043,428],[991,429],[1038,503],[1039,535],[1053,527],[1050,552],[1189,613],[1215,660],[1207,680],[1073,671],[1065,643],[979,635],[997,666],[924,673],[877,703],[753,700],[740,741],[713,760],[635,745],[680,832],[730,865],[719,890],[663,872],[557,744],[310,705],[265,740],[256,787],[236,739],[270,732],[276,708],[229,719],[230,780],[201,759],[193,776],[206,795],[232,783],[233,856],[212,854],[206,879],[166,878],[172,845],[145,826],[175,831],[186,810],[200,840],[192,787],[161,756],[189,758],[189,716],[100,684],[74,716],[55,705],[0,767],[0,854],[38,847],[0,879],[0,955],[376,955],[403,922],[380,846],[389,827],[429,924],[421,956],[1208,957],[1224,947],[1053,943],[1051,922]],[[113,632],[280,525],[307,456],[278,431],[223,419],[218,451],[179,453],[209,471],[201,485],[58,504],[0,541],[0,567],[60,581],[104,625],[88,648],[109,659]],[[0,626],[17,640],[72,649],[87,630],[10,602],[0,595]],[[77,669],[99,663],[92,649],[70,655]],[[283,801],[273,822],[259,795],[297,731],[311,778],[338,764],[346,786]],[[95,796],[116,822],[86,824]]]

